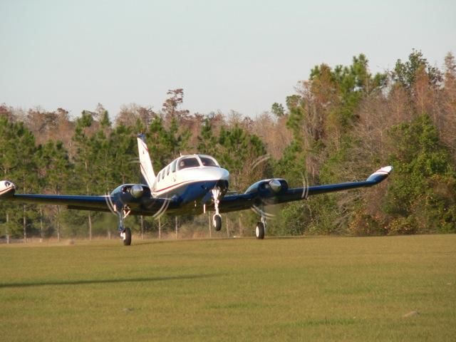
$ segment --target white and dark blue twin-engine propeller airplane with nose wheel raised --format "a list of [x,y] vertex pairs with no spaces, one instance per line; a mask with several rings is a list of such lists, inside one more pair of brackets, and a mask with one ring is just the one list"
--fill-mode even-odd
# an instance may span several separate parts
[[9,180],[0,181],[0,200],[35,204],[56,204],[68,209],[100,212],[113,212],[118,217],[118,232],[123,244],[132,241],[131,230],[125,227],[128,215],[162,214],[202,214],[214,212],[212,226],[216,231],[222,229],[220,213],[253,209],[259,214],[255,227],[257,239],[264,239],[268,213],[264,207],[307,199],[311,195],[326,192],[350,190],[358,187],[371,187],[385,180],[393,167],[381,167],[366,180],[331,185],[289,188],[282,178],[259,180],[247,188],[243,194],[227,194],[229,172],[209,155],[182,155],[165,166],[155,175],[150,160],[145,136],[138,135],[138,152],[141,184],[123,184],[109,195],[40,195],[16,194],[16,185]]

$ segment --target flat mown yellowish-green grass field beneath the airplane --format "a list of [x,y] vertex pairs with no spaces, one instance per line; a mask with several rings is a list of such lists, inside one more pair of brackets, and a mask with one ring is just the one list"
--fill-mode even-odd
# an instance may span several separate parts
[[0,262],[0,341],[456,341],[456,235],[16,245]]

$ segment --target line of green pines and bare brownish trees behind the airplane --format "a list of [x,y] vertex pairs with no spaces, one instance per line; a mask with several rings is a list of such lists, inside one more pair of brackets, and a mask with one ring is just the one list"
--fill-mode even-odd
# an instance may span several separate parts
[[[125,105],[111,121],[103,105],[78,118],[58,108],[0,105],[0,172],[19,192],[103,195],[139,182],[135,136],[145,133],[156,171],[178,155],[207,153],[230,171],[230,191],[262,178],[292,187],[362,180],[380,166],[377,187],[268,207],[269,235],[456,232],[456,63],[443,68],[420,51],[371,73],[363,54],[349,66],[315,66],[296,93],[257,118],[190,113],[184,90],[162,108]],[[116,217],[60,206],[0,202],[0,236],[93,237],[116,233]],[[253,234],[257,214],[225,214],[228,236]],[[175,218],[133,217],[134,232],[174,236]],[[180,217],[181,237],[210,232],[208,216]]]

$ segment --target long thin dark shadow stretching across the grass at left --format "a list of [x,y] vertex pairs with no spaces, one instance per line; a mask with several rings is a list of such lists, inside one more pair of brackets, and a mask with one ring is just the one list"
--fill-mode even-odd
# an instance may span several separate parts
[[188,279],[207,279],[223,274],[183,274],[180,276],[152,276],[149,278],[132,278],[132,279],[81,279],[81,280],[62,280],[62,281],[36,281],[30,283],[10,283],[0,284],[0,289],[14,287],[33,287],[33,286],[62,286],[62,285],[90,285],[90,284],[118,284],[118,283],[147,283],[154,281],[175,281]]

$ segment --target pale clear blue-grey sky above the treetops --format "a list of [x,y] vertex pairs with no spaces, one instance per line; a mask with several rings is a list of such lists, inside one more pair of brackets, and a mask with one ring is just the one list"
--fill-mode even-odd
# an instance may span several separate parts
[[183,88],[190,113],[255,117],[318,64],[383,72],[413,48],[456,54],[456,1],[0,0],[0,104],[115,117]]

